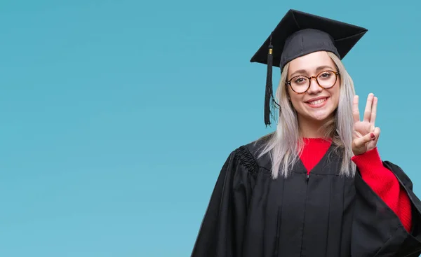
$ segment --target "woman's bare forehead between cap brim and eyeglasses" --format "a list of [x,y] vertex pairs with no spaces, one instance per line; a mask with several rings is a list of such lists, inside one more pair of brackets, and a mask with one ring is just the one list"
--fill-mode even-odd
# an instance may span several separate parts
[[309,53],[290,61],[288,74],[293,74],[295,71],[304,70],[307,73],[314,73],[319,67],[329,66],[332,69],[335,67],[335,62],[329,57],[328,53],[324,51]]

